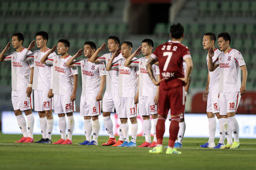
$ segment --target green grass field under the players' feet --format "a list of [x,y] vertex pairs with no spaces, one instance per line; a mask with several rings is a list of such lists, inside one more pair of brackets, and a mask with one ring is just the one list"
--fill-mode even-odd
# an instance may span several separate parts
[[[256,169],[256,140],[240,139],[238,149],[200,148],[206,138],[184,138],[181,155],[149,154],[149,148],[14,143],[21,135],[0,133],[0,169]],[[34,135],[39,140],[41,135]],[[59,135],[53,135],[55,142]],[[117,137],[116,137],[117,138]],[[99,136],[103,143],[107,136]],[[144,141],[138,137],[137,144]],[[164,139],[167,145],[168,138]],[[215,139],[215,143],[218,139]]]

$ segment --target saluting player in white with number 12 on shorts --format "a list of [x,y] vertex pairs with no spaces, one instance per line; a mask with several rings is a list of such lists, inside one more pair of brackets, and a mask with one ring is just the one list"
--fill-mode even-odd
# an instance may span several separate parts
[[[139,145],[138,147],[155,147],[157,145],[157,137],[156,137],[156,125],[157,125],[157,105],[159,98],[159,86],[155,85],[149,75],[146,68],[146,63],[152,54],[152,49],[154,47],[154,42],[151,39],[144,39],[142,41],[142,46],[139,48],[142,50],[142,53],[145,55],[139,59],[133,61],[133,64],[137,64],[139,66],[139,114],[143,117],[143,131],[145,135],[146,141]],[[138,51],[138,50],[137,50]],[[131,64],[132,59],[135,57],[135,51],[129,58],[127,58],[124,62],[124,66],[128,66]],[[138,52],[137,52],[138,53]],[[138,53],[139,54],[139,53]],[[160,72],[157,65],[152,65],[153,74],[155,78],[160,79]],[[154,122],[154,139],[151,142],[151,119],[150,115],[152,115]]]

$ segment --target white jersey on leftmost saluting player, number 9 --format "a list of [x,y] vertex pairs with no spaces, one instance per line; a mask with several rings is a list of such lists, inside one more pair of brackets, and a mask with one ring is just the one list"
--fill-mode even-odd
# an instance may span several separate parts
[[[21,61],[21,57],[26,55],[23,48],[20,52],[13,51],[5,55],[5,61],[12,62],[12,89],[13,90],[26,90],[30,82],[30,68],[34,67],[33,61]],[[29,51],[31,53],[31,51]],[[24,57],[25,58],[25,57]]]

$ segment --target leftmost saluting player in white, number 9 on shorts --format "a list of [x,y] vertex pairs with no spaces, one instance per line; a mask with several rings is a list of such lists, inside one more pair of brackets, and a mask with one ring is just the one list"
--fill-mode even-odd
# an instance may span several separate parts
[[[33,95],[31,95],[31,93],[34,65],[31,61],[21,61],[22,55],[26,55],[24,51],[25,47],[23,47],[23,41],[24,36],[22,33],[14,33],[12,37],[12,44],[16,51],[5,55],[5,53],[10,49],[11,42],[8,42],[4,50],[0,53],[0,62],[12,62],[12,103],[18,125],[23,133],[23,137],[15,142],[30,143],[34,142],[33,129],[35,119],[31,110],[33,107]],[[32,41],[29,45],[29,49],[33,48],[34,43],[35,41]],[[28,131],[22,111],[25,112],[27,117]]]

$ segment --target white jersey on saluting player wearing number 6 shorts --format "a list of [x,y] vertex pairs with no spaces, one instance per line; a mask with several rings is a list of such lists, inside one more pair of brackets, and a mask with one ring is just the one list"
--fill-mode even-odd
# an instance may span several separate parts
[[80,59],[73,62],[75,67],[80,66],[82,72],[82,96],[95,97],[100,88],[100,76],[106,75],[106,67],[103,62],[92,63],[88,59]]

